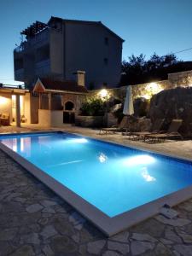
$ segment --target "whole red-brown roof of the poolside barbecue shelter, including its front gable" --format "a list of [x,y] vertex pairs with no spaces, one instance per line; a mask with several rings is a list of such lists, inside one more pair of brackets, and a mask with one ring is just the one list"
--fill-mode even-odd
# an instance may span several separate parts
[[[44,86],[44,88],[41,88],[41,86],[39,86],[39,82]],[[33,91],[44,92],[46,90],[65,90],[78,93],[88,92],[88,90],[84,86],[78,85],[73,80],[59,81],[52,79],[38,79]]]

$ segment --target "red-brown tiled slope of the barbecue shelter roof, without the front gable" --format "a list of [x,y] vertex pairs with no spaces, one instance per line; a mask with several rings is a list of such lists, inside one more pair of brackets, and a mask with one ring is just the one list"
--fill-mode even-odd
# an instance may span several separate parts
[[59,81],[51,79],[40,79],[46,90],[68,90],[80,93],[86,93],[88,90],[81,85],[78,85],[75,81]]

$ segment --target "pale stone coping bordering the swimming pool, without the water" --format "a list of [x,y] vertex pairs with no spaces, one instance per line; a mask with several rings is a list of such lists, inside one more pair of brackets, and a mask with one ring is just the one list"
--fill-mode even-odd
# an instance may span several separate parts
[[[35,134],[35,133],[48,133],[44,132],[27,132],[26,134]],[[53,131],[54,133],[54,131]],[[7,136],[8,134],[4,134],[3,136]],[[16,136],[17,134],[10,134]],[[18,134],[21,135],[21,134]],[[108,143],[108,142],[106,142]],[[111,142],[110,142],[111,143]],[[119,144],[119,143],[113,143]],[[122,144],[119,144],[122,146]],[[125,145],[123,145],[126,147]],[[128,147],[134,148],[134,147]],[[84,218],[90,220],[92,224],[95,224],[99,230],[106,236],[113,236],[120,231],[126,230],[134,224],[138,224],[146,218],[153,217],[155,214],[160,212],[160,208],[165,204],[173,207],[183,201],[188,200],[192,197],[192,185],[185,189],[180,189],[172,194],[165,195],[160,199],[150,201],[140,207],[136,207],[130,211],[121,213],[113,218],[108,217],[107,214],[100,211],[98,208],[91,205],[89,202],[85,201],[82,197],[75,194],[72,190],[67,189],[66,186],[56,181],[53,177],[50,177],[48,174],[43,172],[37,166],[34,166],[31,162],[20,156],[20,154],[15,153],[12,149],[5,146],[3,143],[0,143],[0,149],[3,150],[4,153],[8,154],[12,159],[23,166],[28,172],[32,173],[33,176],[37,177],[42,183],[46,184],[49,189],[52,189],[57,195],[61,196],[64,201],[67,201],[69,205],[74,207],[78,212],[80,212]],[[143,150],[143,148],[137,148]],[[156,153],[153,151],[146,150],[147,152]],[[172,157],[172,155],[160,154],[168,157]],[[186,160],[183,158],[175,158],[176,160]]]

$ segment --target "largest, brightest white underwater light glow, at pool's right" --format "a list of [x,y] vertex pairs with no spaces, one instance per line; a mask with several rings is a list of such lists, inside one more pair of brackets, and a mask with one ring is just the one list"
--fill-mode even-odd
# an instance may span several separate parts
[[138,166],[138,165],[148,165],[154,163],[154,157],[148,154],[140,154],[136,156],[131,156],[123,160],[123,165],[125,166]]

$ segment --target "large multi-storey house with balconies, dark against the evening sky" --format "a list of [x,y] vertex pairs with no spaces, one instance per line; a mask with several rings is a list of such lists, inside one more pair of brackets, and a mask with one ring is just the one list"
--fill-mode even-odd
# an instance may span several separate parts
[[101,21],[51,17],[21,35],[26,40],[14,50],[15,80],[32,88],[38,77],[72,80],[74,72],[83,70],[87,89],[119,84],[124,40]]

